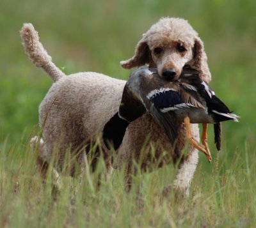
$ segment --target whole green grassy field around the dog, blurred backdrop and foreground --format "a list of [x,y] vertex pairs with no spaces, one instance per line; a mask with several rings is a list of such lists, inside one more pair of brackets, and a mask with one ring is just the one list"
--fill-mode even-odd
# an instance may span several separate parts
[[[255,227],[255,8],[252,0],[1,0],[0,227]],[[240,122],[223,123],[220,152],[210,127],[213,162],[200,154],[186,202],[161,197],[172,183],[172,165],[138,175],[129,195],[124,171],[114,171],[100,190],[96,174],[63,175],[60,195],[52,199],[51,176],[43,185],[29,148],[31,136],[40,132],[38,105],[52,81],[24,54],[22,24],[34,24],[63,72],[127,79],[130,72],[119,62],[134,54],[141,35],[164,16],[185,18],[198,31],[210,85]]]

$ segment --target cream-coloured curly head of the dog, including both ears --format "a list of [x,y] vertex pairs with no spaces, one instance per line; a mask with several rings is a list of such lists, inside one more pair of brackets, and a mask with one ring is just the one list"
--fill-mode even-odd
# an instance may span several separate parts
[[134,56],[121,61],[121,66],[128,69],[145,64],[157,67],[166,80],[178,79],[185,64],[200,70],[203,80],[211,80],[204,43],[184,19],[159,20],[143,34]]

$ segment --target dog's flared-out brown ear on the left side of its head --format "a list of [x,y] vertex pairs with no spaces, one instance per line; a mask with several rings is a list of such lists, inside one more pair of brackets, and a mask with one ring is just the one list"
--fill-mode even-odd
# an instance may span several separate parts
[[131,69],[136,66],[143,66],[152,62],[152,57],[148,43],[144,38],[140,40],[135,49],[135,54],[131,59],[127,59],[120,62],[122,68]]

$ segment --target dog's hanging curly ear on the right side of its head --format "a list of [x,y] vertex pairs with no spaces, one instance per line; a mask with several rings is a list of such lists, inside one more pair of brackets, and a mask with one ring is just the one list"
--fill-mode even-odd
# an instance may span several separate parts
[[202,72],[201,77],[206,82],[211,80],[211,73],[207,64],[207,56],[204,50],[204,43],[200,38],[195,39],[193,67]]

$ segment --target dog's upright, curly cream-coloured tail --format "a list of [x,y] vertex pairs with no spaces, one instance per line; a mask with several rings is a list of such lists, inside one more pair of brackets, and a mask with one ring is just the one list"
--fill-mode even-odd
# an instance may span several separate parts
[[20,35],[23,40],[25,52],[28,54],[31,61],[37,66],[42,67],[45,72],[49,73],[54,82],[65,77],[65,73],[52,63],[52,58],[47,54],[44,46],[39,41],[39,36],[32,24],[24,24],[20,30]]

